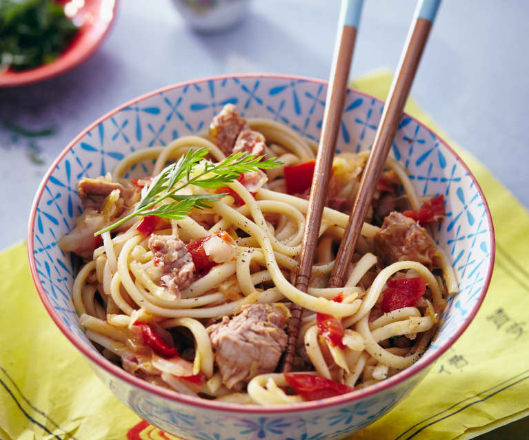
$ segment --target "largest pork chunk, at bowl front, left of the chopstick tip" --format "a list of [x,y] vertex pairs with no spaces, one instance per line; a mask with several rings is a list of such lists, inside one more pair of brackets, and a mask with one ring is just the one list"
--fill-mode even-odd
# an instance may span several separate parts
[[207,328],[223,384],[237,389],[256,375],[275,371],[288,339],[287,315],[283,305],[252,304]]

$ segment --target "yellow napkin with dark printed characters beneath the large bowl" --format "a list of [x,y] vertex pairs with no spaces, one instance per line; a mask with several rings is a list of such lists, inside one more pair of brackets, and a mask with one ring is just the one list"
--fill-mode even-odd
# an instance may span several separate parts
[[[390,80],[384,72],[355,87],[384,98]],[[410,102],[407,111],[442,136],[417,105]],[[495,221],[490,290],[475,321],[426,379],[351,440],[469,439],[529,415],[529,216],[483,165],[456,149]],[[121,405],[61,335],[34,291],[23,244],[0,253],[0,292],[0,439],[176,439]]]

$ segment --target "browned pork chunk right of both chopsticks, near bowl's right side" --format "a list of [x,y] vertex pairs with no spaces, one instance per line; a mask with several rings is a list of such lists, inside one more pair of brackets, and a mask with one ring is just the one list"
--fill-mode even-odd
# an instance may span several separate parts
[[384,264],[412,260],[432,267],[435,243],[415,220],[393,211],[375,234],[375,249]]

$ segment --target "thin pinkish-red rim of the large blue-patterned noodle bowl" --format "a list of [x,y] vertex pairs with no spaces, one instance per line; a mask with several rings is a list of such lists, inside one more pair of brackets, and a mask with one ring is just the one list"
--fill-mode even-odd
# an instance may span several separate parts
[[[195,406],[199,408],[204,408],[208,410],[216,410],[216,411],[224,411],[224,412],[243,412],[246,414],[277,414],[277,413],[290,413],[290,412],[299,412],[299,411],[309,411],[309,410],[318,410],[321,408],[328,408],[330,406],[338,406],[342,404],[350,404],[353,401],[357,401],[359,399],[362,399],[364,397],[369,397],[372,395],[377,394],[378,392],[381,392],[383,390],[388,390],[389,388],[392,388],[392,386],[395,386],[397,384],[402,383],[403,381],[406,381],[407,379],[410,379],[413,375],[419,373],[419,371],[427,368],[428,366],[432,365],[443,353],[452,346],[456,342],[456,340],[461,336],[463,331],[466,330],[466,328],[469,326],[470,322],[472,322],[472,319],[474,319],[475,315],[477,314],[477,311],[479,310],[479,307],[483,303],[483,300],[485,298],[486,292],[488,291],[488,287],[490,285],[490,279],[492,277],[492,271],[494,268],[494,262],[495,262],[495,253],[496,253],[496,242],[495,242],[495,232],[494,232],[494,224],[492,223],[492,216],[490,215],[490,209],[488,207],[487,200],[485,196],[483,195],[483,191],[481,190],[481,187],[479,186],[479,183],[477,182],[474,174],[468,169],[467,165],[463,162],[459,154],[457,154],[448,143],[446,143],[443,138],[437,136],[435,132],[432,132],[432,130],[428,129],[426,125],[419,122],[417,118],[413,118],[412,116],[405,113],[406,116],[410,117],[412,121],[415,121],[415,123],[421,125],[422,127],[425,127],[428,129],[429,132],[434,134],[438,140],[445,145],[451,154],[455,156],[463,166],[463,168],[467,171],[468,176],[472,178],[473,182],[476,185],[477,191],[479,195],[481,196],[481,199],[483,200],[485,207],[486,207],[486,215],[488,222],[490,224],[490,266],[488,269],[488,273],[486,275],[485,283],[483,284],[483,290],[481,291],[481,295],[479,296],[479,299],[474,304],[472,311],[470,311],[470,315],[468,318],[461,324],[460,328],[456,331],[455,335],[452,335],[450,339],[448,339],[447,342],[445,342],[435,353],[435,355],[429,356],[425,362],[423,359],[424,357],[421,357],[415,364],[412,366],[406,368],[405,370],[402,370],[400,373],[397,373],[397,375],[390,377],[389,379],[386,379],[384,381],[381,381],[379,384],[375,384],[372,386],[369,386],[367,388],[363,388],[361,390],[356,390],[355,392],[350,392],[346,395],[336,396],[336,397],[329,397],[327,399],[323,400],[315,400],[315,401],[307,401],[307,402],[301,402],[299,404],[289,404],[289,405],[264,405],[264,406],[257,406],[257,405],[248,405],[248,404],[233,404],[228,402],[217,402],[213,400],[207,400],[207,399],[201,399],[199,397],[192,397],[187,395],[181,395],[177,392],[167,390],[166,388],[161,388],[159,386],[152,385],[146,381],[143,381],[139,379],[138,377],[135,377],[134,375],[131,375],[130,373],[127,373],[122,368],[119,368],[119,366],[116,366],[112,364],[110,361],[108,361],[105,357],[99,355],[98,353],[95,353],[93,350],[90,350],[90,348],[86,347],[86,344],[82,342],[82,340],[77,336],[71,333],[68,329],[68,326],[60,319],[59,315],[57,315],[57,312],[54,310],[50,300],[48,300],[48,296],[43,291],[43,288],[41,286],[41,283],[39,282],[39,275],[37,273],[37,265],[35,264],[34,260],[34,243],[33,243],[33,232],[34,232],[34,222],[35,217],[37,215],[37,205],[39,203],[39,200],[41,199],[44,187],[48,183],[48,180],[57,167],[61,160],[68,154],[70,149],[76,145],[83,136],[85,136],[90,130],[94,129],[94,127],[97,127],[101,122],[105,121],[106,119],[110,118],[110,116],[113,116],[117,112],[119,112],[121,109],[125,107],[130,107],[131,105],[134,105],[135,103],[138,103],[139,101],[143,101],[147,98],[150,98],[151,96],[155,96],[157,94],[161,94],[163,92],[168,92],[169,90],[186,87],[186,85],[192,85],[195,83],[203,83],[206,81],[219,81],[225,78],[278,78],[278,79],[286,79],[291,81],[308,81],[312,83],[317,83],[321,85],[328,85],[327,81],[323,81],[321,79],[317,78],[310,78],[307,76],[297,76],[297,75],[288,75],[288,74],[259,74],[259,73],[251,73],[251,74],[228,74],[228,75],[218,75],[218,76],[210,76],[206,78],[199,78],[194,79],[191,81],[185,81],[182,83],[177,83],[173,85],[168,85],[166,87],[161,87],[158,90],[154,90],[152,92],[148,92],[146,94],[143,94],[141,96],[138,96],[137,98],[132,99],[131,101],[128,101],[127,103],[123,105],[119,105],[119,107],[114,108],[101,118],[97,119],[94,123],[90,124],[86,129],[83,129],[81,133],[79,133],[67,146],[57,159],[54,160],[52,163],[50,169],[46,172],[46,175],[43,177],[43,180],[41,181],[41,185],[39,186],[39,189],[37,189],[37,193],[35,195],[35,198],[33,200],[32,208],[30,211],[30,220],[28,224],[28,235],[27,235],[27,242],[28,242],[28,260],[30,264],[30,272],[33,278],[33,282],[35,285],[35,288],[37,289],[37,293],[39,294],[39,297],[41,298],[41,301],[46,308],[46,311],[48,311],[48,314],[54,321],[54,323],[59,327],[59,329],[62,331],[62,333],[70,340],[70,342],[79,350],[83,355],[88,357],[94,364],[102,368],[103,370],[106,370],[107,373],[110,373],[111,375],[116,376],[117,378],[128,382],[128,384],[135,386],[137,388],[140,388],[141,390],[144,390],[146,392],[150,392],[154,395],[157,395],[158,397],[162,397],[164,399],[169,399],[172,401],[177,401],[180,404],[187,404],[190,406]],[[360,94],[361,96],[364,96],[366,98],[375,99],[379,103],[383,104],[383,101],[381,101],[378,98],[375,98],[374,96],[371,96],[370,94],[359,92],[358,90],[349,89],[351,91],[354,91],[357,94]]]

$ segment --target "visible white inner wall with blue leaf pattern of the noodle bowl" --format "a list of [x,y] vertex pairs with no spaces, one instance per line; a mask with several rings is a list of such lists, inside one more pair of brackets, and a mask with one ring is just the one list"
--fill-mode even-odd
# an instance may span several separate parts
[[[302,136],[317,140],[325,96],[326,85],[296,78],[241,76],[197,81],[122,107],[72,145],[53,169],[38,200],[33,242],[43,291],[54,313],[82,344],[95,350],[77,325],[70,299],[73,260],[57,246],[57,240],[70,231],[74,218],[81,212],[75,191],[77,180],[111,171],[131,151],[167,145],[178,136],[202,132],[226,103],[236,104],[243,116],[272,118]],[[381,112],[379,101],[349,91],[338,150],[370,148]],[[459,293],[450,298],[424,361],[435,355],[479,306],[491,269],[491,224],[486,203],[472,176],[426,127],[403,117],[391,154],[408,169],[420,195],[444,194],[446,218],[437,227],[435,238],[452,258],[459,279]],[[149,165],[138,165],[132,173],[145,175]]]

